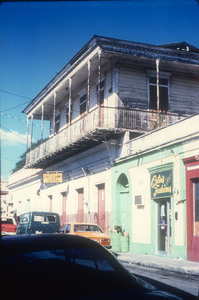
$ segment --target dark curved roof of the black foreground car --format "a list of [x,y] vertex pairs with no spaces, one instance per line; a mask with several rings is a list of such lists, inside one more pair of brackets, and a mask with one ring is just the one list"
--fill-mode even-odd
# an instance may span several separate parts
[[87,248],[99,246],[98,243],[85,237],[58,233],[3,236],[1,240],[1,250],[4,255],[59,248]]

